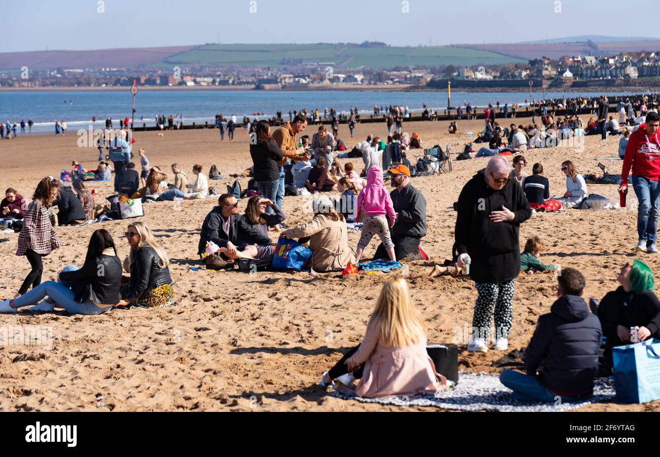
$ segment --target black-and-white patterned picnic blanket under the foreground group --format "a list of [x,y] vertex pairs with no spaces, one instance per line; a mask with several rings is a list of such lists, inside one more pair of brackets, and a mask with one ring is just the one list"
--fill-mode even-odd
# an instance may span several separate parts
[[609,379],[597,379],[593,396],[576,403],[523,402],[511,396],[512,390],[500,383],[500,378],[486,373],[466,374],[461,372],[459,383],[449,390],[438,390],[434,395],[418,396],[413,399],[397,396],[383,398],[361,398],[350,387],[339,387],[330,396],[361,403],[378,403],[393,406],[433,406],[457,411],[500,411],[500,412],[564,412],[581,408],[587,404],[607,402],[615,396]]

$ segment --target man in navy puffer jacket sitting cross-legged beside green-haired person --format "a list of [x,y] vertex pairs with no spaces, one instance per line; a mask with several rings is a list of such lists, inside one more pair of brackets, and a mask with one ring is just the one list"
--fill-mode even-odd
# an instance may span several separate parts
[[582,298],[585,280],[578,270],[564,269],[558,282],[558,300],[549,314],[539,317],[525,351],[527,374],[500,373],[500,382],[518,400],[575,402],[592,394],[603,338],[601,323]]

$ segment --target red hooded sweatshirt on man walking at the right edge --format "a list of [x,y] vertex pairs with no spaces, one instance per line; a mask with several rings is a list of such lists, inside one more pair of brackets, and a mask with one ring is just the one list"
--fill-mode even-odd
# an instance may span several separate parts
[[628,186],[631,167],[633,176],[644,176],[651,181],[660,180],[660,132],[647,136],[646,124],[640,125],[628,140],[621,171],[622,186]]

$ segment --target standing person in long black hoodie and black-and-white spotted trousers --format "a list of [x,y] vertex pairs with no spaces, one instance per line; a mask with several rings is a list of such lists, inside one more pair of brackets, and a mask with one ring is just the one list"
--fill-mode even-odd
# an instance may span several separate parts
[[459,268],[469,264],[479,293],[469,351],[488,352],[493,315],[495,350],[506,350],[509,344],[514,281],[520,273],[519,228],[531,217],[527,198],[510,180],[510,170],[504,157],[492,157],[486,169],[465,184],[458,200],[457,264]]

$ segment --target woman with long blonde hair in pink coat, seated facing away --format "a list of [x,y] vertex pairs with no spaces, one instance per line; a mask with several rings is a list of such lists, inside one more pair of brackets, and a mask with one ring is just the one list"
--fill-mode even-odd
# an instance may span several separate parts
[[325,387],[337,378],[350,384],[353,377],[360,379],[355,393],[364,398],[413,397],[438,390],[435,367],[426,353],[426,325],[403,277],[385,281],[362,344],[323,373],[320,384]]

